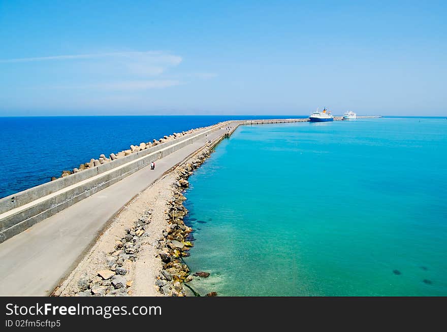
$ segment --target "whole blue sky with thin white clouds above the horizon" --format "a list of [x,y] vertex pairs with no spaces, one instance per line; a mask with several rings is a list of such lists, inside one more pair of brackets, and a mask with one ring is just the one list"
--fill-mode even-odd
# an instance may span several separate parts
[[0,0],[0,116],[447,116],[445,1]]

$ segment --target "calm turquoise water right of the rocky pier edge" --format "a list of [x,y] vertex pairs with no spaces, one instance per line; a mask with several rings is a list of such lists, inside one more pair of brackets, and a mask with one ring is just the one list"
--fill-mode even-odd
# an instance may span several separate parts
[[202,295],[447,295],[447,120],[241,126],[189,178]]

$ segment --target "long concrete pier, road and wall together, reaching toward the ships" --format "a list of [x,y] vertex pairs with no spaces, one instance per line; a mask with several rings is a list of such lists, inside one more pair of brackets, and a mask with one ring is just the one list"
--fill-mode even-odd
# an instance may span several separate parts
[[[51,294],[119,211],[175,165],[239,125],[226,121],[0,200],[0,295]],[[155,161],[155,170],[146,167]]]

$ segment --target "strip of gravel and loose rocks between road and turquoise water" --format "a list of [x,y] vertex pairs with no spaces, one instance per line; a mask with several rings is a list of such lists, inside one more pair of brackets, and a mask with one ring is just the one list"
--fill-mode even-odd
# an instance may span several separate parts
[[[185,296],[191,292],[199,295],[190,287],[184,287],[193,279],[208,277],[209,273],[191,274],[182,259],[189,255],[194,241],[193,229],[183,222],[188,212],[183,206],[186,200],[183,191],[189,186],[188,177],[205,162],[212,152],[211,146],[221,139],[196,151],[142,193],[153,196],[152,202],[156,204],[148,206],[136,197],[127,208],[131,210],[135,204],[140,208],[138,213],[129,216],[125,214],[130,212],[120,213],[114,221],[119,224],[110,225],[52,295]],[[165,191],[163,197],[161,190]],[[125,223],[120,222],[120,217]],[[152,283],[153,289],[148,283]]]

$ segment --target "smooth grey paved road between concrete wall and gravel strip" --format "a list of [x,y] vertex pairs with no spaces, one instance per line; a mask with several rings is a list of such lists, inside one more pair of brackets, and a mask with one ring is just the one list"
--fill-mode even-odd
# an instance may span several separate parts
[[0,295],[49,295],[132,197],[224,133],[217,130],[158,160],[155,170],[146,167],[1,243]]

